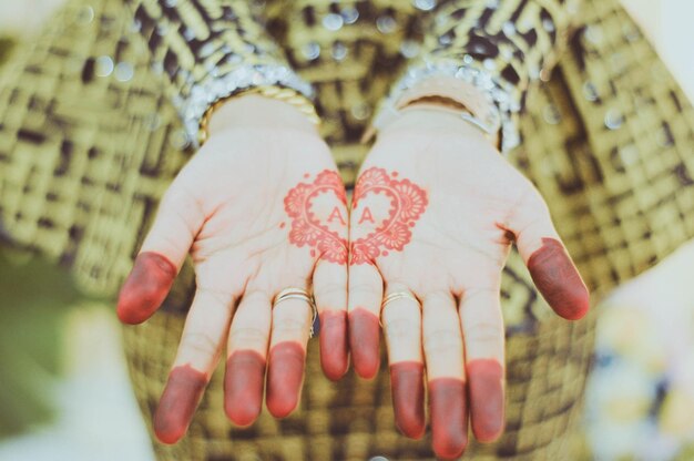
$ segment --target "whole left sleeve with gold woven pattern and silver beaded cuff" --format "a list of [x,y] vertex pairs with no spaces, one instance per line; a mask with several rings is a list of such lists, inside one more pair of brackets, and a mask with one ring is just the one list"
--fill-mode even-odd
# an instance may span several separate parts
[[125,0],[164,73],[191,141],[214,102],[252,86],[289,88],[312,98],[310,85],[287,65],[249,1]]

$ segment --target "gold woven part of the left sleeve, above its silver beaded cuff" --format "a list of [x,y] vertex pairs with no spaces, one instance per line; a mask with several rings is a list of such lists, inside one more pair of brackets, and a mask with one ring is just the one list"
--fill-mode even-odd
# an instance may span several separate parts
[[170,98],[184,100],[191,95],[193,85],[221,79],[239,63],[285,63],[251,2],[125,0],[125,3],[132,11],[130,29],[145,39],[153,70],[166,75]]

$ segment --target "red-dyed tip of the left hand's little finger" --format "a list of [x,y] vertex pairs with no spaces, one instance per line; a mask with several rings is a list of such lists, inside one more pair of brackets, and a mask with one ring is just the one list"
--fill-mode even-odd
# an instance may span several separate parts
[[329,310],[320,314],[320,366],[333,381],[347,372],[347,313]]

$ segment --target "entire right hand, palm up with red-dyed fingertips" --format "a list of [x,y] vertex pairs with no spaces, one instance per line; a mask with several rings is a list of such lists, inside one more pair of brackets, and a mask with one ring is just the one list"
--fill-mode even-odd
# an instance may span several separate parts
[[[516,243],[551,307],[567,319],[589,293],[539,192],[492,143],[455,114],[412,106],[379,133],[357,180],[349,227],[349,341],[357,373],[388,349],[396,423],[459,457],[504,424],[501,270]],[[408,291],[420,303],[385,295]]]

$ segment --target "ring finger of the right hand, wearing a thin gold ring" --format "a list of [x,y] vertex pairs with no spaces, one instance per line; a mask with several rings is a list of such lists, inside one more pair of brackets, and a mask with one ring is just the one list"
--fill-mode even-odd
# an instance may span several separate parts
[[[406,288],[390,293],[409,293]],[[384,334],[390,363],[395,421],[405,436],[419,439],[425,432],[423,359],[419,301],[399,298],[384,305]]]

